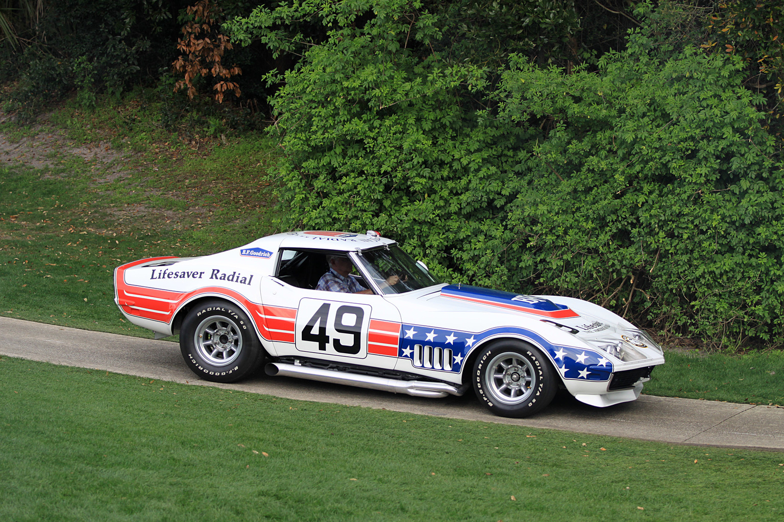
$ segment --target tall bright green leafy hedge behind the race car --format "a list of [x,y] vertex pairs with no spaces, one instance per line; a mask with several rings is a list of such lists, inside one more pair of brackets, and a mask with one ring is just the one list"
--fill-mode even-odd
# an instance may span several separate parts
[[[229,24],[303,52],[275,78],[285,226],[379,229],[445,279],[775,342],[781,147],[746,63],[643,25],[573,67],[567,10],[492,13],[521,35],[506,45],[477,30],[482,16],[456,19],[459,3],[303,2]],[[292,32],[305,21],[326,37]],[[550,42],[537,57],[532,38]]]

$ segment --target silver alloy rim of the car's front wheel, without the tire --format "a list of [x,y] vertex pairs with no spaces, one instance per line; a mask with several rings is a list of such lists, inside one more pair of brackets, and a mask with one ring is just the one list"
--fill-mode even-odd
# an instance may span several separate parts
[[514,351],[496,355],[485,369],[488,392],[496,401],[517,405],[533,393],[535,370],[527,358]]

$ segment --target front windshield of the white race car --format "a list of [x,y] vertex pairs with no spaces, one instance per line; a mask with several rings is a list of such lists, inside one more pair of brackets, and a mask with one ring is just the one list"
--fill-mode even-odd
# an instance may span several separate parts
[[[404,293],[437,285],[437,281],[423,266],[417,265],[400,247],[365,250],[359,257],[362,268],[370,275],[383,293]],[[387,279],[397,275],[397,283],[387,284]]]

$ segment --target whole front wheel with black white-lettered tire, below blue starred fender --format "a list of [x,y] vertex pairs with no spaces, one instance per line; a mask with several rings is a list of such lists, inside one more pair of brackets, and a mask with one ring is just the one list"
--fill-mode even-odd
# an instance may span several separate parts
[[474,391],[495,415],[533,415],[553,400],[558,379],[553,365],[529,344],[501,340],[485,348],[474,362]]

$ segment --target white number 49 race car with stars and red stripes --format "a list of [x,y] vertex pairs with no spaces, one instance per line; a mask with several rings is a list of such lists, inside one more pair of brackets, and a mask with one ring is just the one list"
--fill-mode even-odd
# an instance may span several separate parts
[[[316,290],[338,265],[365,293]],[[142,259],[117,268],[114,285],[130,322],[156,338],[180,333],[191,370],[222,383],[266,362],[270,376],[422,397],[473,387],[495,414],[523,417],[559,387],[594,406],[633,401],[664,362],[646,333],[596,304],[439,283],[372,231]]]

